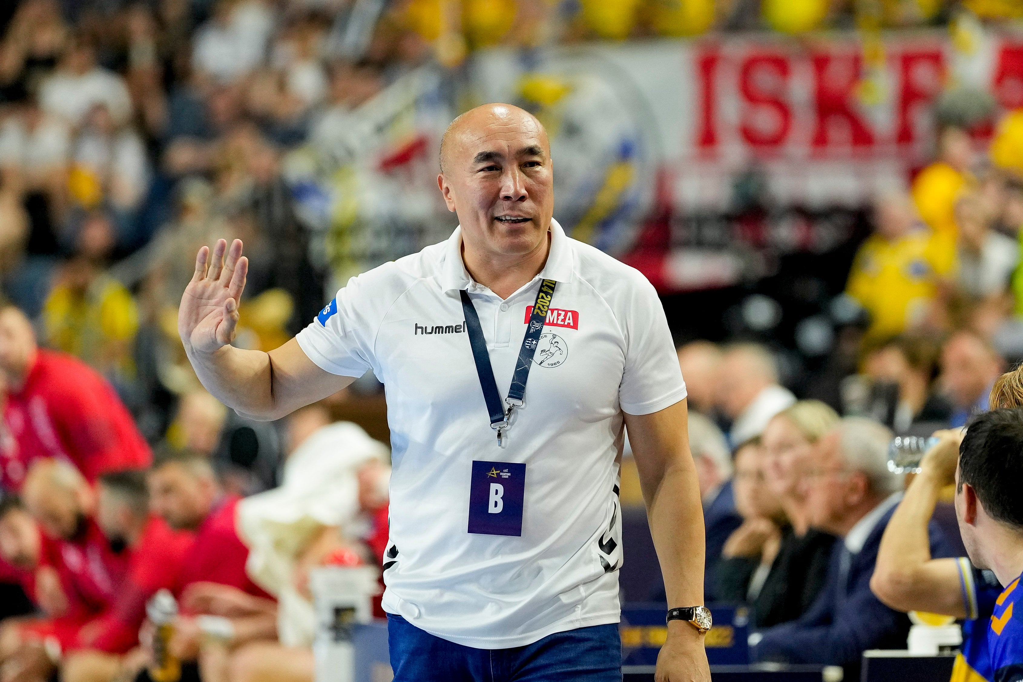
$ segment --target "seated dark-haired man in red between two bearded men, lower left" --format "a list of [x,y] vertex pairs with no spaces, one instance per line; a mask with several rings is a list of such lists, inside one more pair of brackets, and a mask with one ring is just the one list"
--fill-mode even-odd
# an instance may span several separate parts
[[173,590],[191,548],[187,532],[175,532],[149,511],[145,472],[125,470],[99,478],[96,521],[114,546],[124,545],[131,558],[112,607],[82,628],[72,650],[64,651],[64,682],[107,682],[122,672],[122,654],[138,644],[145,604],[158,590]]

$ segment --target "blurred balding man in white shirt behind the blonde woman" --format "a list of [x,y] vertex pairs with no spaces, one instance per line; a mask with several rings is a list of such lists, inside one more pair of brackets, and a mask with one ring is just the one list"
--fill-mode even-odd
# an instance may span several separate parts
[[721,411],[731,419],[731,447],[760,436],[771,417],[796,402],[796,397],[779,384],[777,365],[770,351],[757,344],[725,349],[716,395]]

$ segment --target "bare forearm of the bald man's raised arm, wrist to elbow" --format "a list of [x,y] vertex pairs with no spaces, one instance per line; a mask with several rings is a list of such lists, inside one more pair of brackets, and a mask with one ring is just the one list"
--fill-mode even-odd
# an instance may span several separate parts
[[185,347],[195,375],[214,398],[246,416],[272,418],[273,377],[270,356],[225,346],[214,353]]

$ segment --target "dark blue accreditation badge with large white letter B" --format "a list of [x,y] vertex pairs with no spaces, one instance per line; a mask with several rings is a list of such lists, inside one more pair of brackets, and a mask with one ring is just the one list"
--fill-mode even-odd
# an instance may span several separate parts
[[473,462],[469,493],[469,532],[522,537],[526,465]]

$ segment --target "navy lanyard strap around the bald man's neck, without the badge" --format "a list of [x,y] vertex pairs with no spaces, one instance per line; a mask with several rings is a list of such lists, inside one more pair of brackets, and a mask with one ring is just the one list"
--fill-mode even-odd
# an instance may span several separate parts
[[526,336],[522,339],[522,348],[519,349],[519,360],[515,366],[515,374],[511,376],[511,387],[508,389],[508,397],[504,399],[507,409],[501,405],[501,396],[497,393],[497,381],[494,380],[494,369],[490,365],[490,353],[487,351],[487,342],[483,337],[480,316],[476,314],[476,308],[465,289],[458,292],[461,294],[461,308],[465,312],[465,330],[469,332],[469,343],[473,347],[476,373],[480,376],[483,400],[486,401],[487,412],[490,413],[490,427],[497,430],[497,445],[499,447],[504,447],[504,431],[510,422],[511,412],[515,408],[525,405],[524,397],[526,396],[526,381],[529,380],[529,368],[533,364],[533,355],[540,343],[543,323],[547,320],[547,308],[550,307],[550,300],[554,297],[554,285],[557,284],[558,282],[552,279],[544,279],[540,282],[540,290],[536,292],[533,314],[529,317],[529,327],[526,329]]

